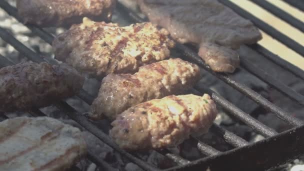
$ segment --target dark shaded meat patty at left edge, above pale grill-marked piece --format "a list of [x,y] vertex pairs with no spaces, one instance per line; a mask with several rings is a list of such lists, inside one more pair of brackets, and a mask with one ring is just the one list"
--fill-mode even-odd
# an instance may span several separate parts
[[43,107],[74,95],[84,77],[66,64],[23,62],[0,69],[0,111]]

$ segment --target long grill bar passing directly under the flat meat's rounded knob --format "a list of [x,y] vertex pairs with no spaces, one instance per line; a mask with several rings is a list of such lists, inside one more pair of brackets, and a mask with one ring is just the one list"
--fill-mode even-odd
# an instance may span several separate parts
[[[121,3],[118,2],[117,3],[117,7],[120,9],[120,11],[123,11],[126,15],[128,15],[129,17],[131,17],[134,21],[136,21],[136,22],[142,22],[142,21],[144,21],[142,18],[140,18],[139,16],[137,16],[135,13],[133,13],[132,11],[129,11]],[[134,17],[134,16],[136,16],[136,17]],[[212,69],[210,69],[210,67],[208,65],[206,65],[200,59],[200,57],[197,55],[197,53],[195,53],[194,51],[192,51],[191,49],[189,49],[185,45],[176,42],[176,48],[175,49],[182,54],[181,57],[183,57],[183,59],[185,59],[185,60],[189,60],[190,59],[191,61],[193,61],[194,63],[198,64],[203,69],[207,70],[208,72],[210,72],[211,74],[213,74],[217,78],[221,79],[222,81],[224,81],[228,85],[234,87],[239,92],[245,94],[250,99],[252,99],[256,103],[258,103],[261,106],[263,106],[265,109],[273,112],[278,118],[280,118],[282,120],[285,120],[286,122],[288,122],[289,124],[291,124],[293,126],[298,126],[298,125],[304,124],[303,121],[301,121],[300,119],[297,119],[295,117],[290,116],[288,113],[286,113],[285,111],[283,111],[281,108],[279,108],[278,106],[275,106],[270,101],[268,101],[267,99],[265,99],[264,97],[262,97],[260,94],[258,94],[257,92],[253,91],[249,87],[247,87],[247,86],[245,86],[245,85],[243,85],[241,83],[237,83],[236,81],[234,81],[233,79],[231,79],[227,74],[214,72]]]

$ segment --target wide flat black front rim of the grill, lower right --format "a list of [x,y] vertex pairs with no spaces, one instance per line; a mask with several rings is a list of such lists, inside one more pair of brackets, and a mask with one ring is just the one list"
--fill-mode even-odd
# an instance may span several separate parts
[[304,125],[294,127],[246,147],[234,148],[216,156],[205,157],[187,165],[165,170],[267,170],[302,155],[303,132]]

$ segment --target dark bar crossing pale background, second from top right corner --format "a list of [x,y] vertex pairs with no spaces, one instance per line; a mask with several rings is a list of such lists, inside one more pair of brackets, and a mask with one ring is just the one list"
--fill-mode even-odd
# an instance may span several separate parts
[[275,5],[271,4],[266,0],[250,0],[250,1],[254,2],[255,4],[271,12],[280,19],[286,21],[288,24],[304,32],[304,23],[299,19],[295,18],[294,16],[290,15],[289,13],[285,12],[284,10],[280,9],[279,7],[276,7]]

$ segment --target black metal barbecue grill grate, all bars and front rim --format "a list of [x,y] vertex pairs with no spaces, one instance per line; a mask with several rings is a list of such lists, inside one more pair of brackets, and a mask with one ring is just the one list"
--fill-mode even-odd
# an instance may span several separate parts
[[[297,43],[296,41],[289,38],[287,35],[282,34],[277,31],[267,23],[259,20],[254,17],[250,13],[241,9],[236,4],[228,1],[228,0],[219,0],[224,5],[232,8],[239,15],[250,19],[257,27],[261,30],[277,39],[278,41],[285,44],[287,47],[291,48],[295,52],[304,56],[304,47]],[[292,17],[288,13],[283,10],[275,7],[271,3],[268,3],[265,0],[251,0],[254,3],[260,5],[261,7],[267,9],[269,12],[278,16],[279,18],[285,20],[289,24],[293,25],[297,29],[304,31],[304,23]],[[287,3],[294,5],[300,10],[304,11],[304,2],[300,0],[286,0]],[[8,14],[15,17],[17,20],[21,21],[21,19],[17,16],[16,8],[11,6],[5,0],[0,0],[0,7],[4,9]],[[124,14],[127,19],[133,22],[142,22],[144,19],[136,15],[133,11],[125,7],[121,3],[117,3],[117,10]],[[53,40],[53,35],[46,32],[44,29],[39,28],[35,25],[26,24],[26,26],[36,35],[40,36],[47,43],[51,44]],[[17,51],[24,54],[29,60],[34,62],[41,62],[47,60],[52,64],[57,63],[55,59],[51,58],[42,58],[39,54],[35,53],[31,49],[27,48],[21,42],[19,42],[16,38],[14,38],[11,34],[9,34],[5,29],[0,28],[0,37],[11,44]],[[250,49],[257,51],[262,54],[265,58],[271,60],[276,65],[284,68],[285,70],[291,72],[295,76],[304,80],[304,71],[297,68],[296,66],[290,64],[289,62],[281,59],[279,56],[271,53],[266,48],[262,47],[259,44],[247,45]],[[209,66],[207,66],[197,55],[195,51],[193,51],[189,46],[176,43],[175,50],[178,51],[181,57],[185,60],[192,61],[198,64],[204,70],[210,72],[212,75],[221,79],[226,84],[235,88],[239,92],[246,95],[248,98],[255,101],[261,107],[265,108],[279,119],[285,121],[289,125],[292,126],[291,129],[288,129],[284,132],[278,133],[274,129],[266,126],[260,121],[256,120],[248,113],[245,113],[234,104],[224,99],[222,96],[212,91],[207,87],[203,87],[200,85],[195,86],[193,91],[196,93],[207,92],[211,95],[212,99],[217,103],[218,106],[221,106],[223,109],[227,110],[229,114],[231,114],[234,118],[239,119],[244,124],[248,125],[255,131],[266,137],[263,140],[260,140],[255,143],[249,143],[243,138],[235,135],[233,132],[230,132],[223,127],[220,127],[217,124],[213,124],[210,128],[210,131],[224,139],[228,144],[233,146],[233,149],[227,151],[219,151],[213,148],[210,145],[207,145],[195,137],[190,137],[193,141],[196,142],[198,150],[205,155],[205,157],[200,158],[198,160],[189,161],[187,158],[182,158],[177,154],[173,154],[169,152],[169,150],[161,150],[158,151],[161,154],[165,155],[169,159],[175,162],[175,166],[166,168],[164,170],[265,170],[269,168],[277,167],[279,164],[286,163],[291,161],[292,159],[297,158],[300,155],[304,154],[304,121],[291,116],[290,113],[282,110],[280,107],[272,104],[266,98],[259,95],[257,92],[253,91],[249,87],[245,86],[242,83],[234,81],[228,74],[225,73],[216,73],[213,72]],[[7,60],[4,56],[0,55],[0,67],[4,67],[7,65],[12,65],[10,60]],[[253,65],[249,60],[241,58],[241,66],[245,70],[249,71],[251,74],[257,76],[264,82],[268,83],[271,87],[277,89],[278,91],[285,94],[292,101],[290,102],[298,102],[300,104],[304,104],[304,96],[299,94],[298,92],[292,90],[290,87],[285,85],[284,83],[274,79],[269,73],[265,72],[262,68]],[[87,104],[91,104],[93,97],[89,95],[83,89],[77,94],[79,98],[81,98]],[[137,155],[136,153],[128,153],[122,149],[120,149],[116,144],[114,144],[109,136],[105,133],[105,130],[101,130],[94,125],[89,119],[85,117],[85,115],[77,112],[73,107],[67,104],[65,101],[59,101],[54,104],[64,113],[66,113],[71,119],[78,122],[85,129],[90,131],[96,137],[98,137],[101,141],[111,146],[114,150],[118,151],[125,157],[127,157],[131,162],[137,164],[144,170],[161,170],[154,165],[151,165],[144,161]],[[45,114],[39,109],[32,109],[29,113],[33,116],[44,116]],[[0,120],[7,119],[3,113],[0,113]],[[98,158],[94,153],[93,149],[88,149],[88,159],[96,163],[101,168],[105,170],[117,170],[111,167],[108,163]],[[72,167],[71,170],[77,170],[77,167]]]

